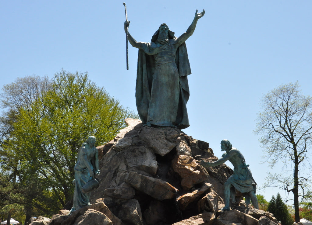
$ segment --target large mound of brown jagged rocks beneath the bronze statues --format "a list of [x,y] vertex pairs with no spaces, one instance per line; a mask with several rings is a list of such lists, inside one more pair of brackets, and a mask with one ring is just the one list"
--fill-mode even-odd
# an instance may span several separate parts
[[[276,224],[272,214],[247,208],[237,196],[231,211],[222,212],[223,184],[232,169],[203,168],[215,161],[209,144],[170,127],[143,127],[126,119],[128,127],[99,146],[100,187],[91,205],[66,215],[61,210],[49,224],[182,225]],[[93,204],[92,204],[93,203]],[[89,221],[89,223],[88,223]],[[100,221],[100,222],[98,222]]]

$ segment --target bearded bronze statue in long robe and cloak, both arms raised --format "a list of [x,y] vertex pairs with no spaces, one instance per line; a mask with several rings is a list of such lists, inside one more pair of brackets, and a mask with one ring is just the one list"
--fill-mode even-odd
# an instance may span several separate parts
[[165,23],[160,25],[150,43],[134,40],[128,32],[130,21],[124,22],[129,43],[139,49],[135,97],[140,119],[147,126],[189,126],[186,103],[191,69],[185,41],[204,14],[205,10],[196,10],[192,24],[178,38]]

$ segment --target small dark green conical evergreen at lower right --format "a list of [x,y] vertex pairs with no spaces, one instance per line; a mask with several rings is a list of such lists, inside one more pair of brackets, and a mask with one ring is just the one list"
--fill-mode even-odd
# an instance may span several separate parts
[[269,204],[268,211],[274,214],[274,217],[282,222],[283,225],[292,225],[294,223],[293,219],[288,212],[287,205],[283,202],[280,197],[280,193],[276,195],[276,198],[272,196]]

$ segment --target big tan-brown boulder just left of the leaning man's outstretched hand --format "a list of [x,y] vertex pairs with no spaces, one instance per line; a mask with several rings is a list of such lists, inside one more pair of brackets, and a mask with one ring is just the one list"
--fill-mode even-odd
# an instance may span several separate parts
[[208,174],[200,166],[199,162],[191,156],[177,155],[172,162],[172,167],[181,180],[183,190],[190,190],[198,183],[208,180]]

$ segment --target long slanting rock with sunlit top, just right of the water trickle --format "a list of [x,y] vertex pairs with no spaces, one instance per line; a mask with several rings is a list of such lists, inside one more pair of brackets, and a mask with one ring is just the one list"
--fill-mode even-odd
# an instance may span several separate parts
[[201,188],[194,190],[191,193],[184,194],[177,198],[177,202],[181,210],[186,210],[192,202],[197,202],[202,198],[211,188],[211,184],[205,183]]

